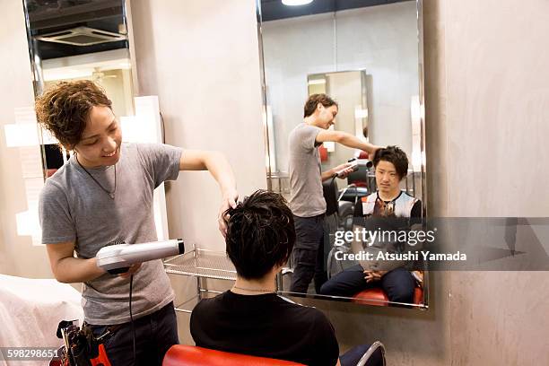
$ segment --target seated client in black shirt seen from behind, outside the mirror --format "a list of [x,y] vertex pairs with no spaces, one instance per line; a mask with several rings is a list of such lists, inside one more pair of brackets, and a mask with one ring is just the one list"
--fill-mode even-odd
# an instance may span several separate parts
[[[308,365],[340,364],[327,317],[275,293],[275,276],[295,241],[283,197],[258,190],[227,213],[227,254],[237,280],[230,291],[196,305],[190,319],[196,345]],[[341,364],[355,365],[367,348],[353,348]]]

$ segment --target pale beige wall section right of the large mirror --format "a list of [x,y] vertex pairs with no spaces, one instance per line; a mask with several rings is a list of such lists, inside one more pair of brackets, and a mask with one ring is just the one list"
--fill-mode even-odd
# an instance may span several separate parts
[[[549,3],[448,1],[440,15],[449,215],[547,216]],[[542,272],[452,274],[453,364],[549,364],[548,289]]]

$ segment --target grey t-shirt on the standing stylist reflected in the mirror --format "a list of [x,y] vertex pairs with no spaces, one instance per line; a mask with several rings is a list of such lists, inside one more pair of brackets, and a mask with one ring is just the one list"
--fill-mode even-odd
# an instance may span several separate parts
[[300,217],[326,213],[320,155],[315,143],[322,128],[301,123],[288,137],[290,148],[290,208]]

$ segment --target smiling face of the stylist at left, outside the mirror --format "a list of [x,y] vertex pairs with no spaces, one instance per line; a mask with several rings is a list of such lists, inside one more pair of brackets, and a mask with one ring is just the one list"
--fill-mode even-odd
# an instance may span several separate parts
[[82,139],[74,146],[78,161],[86,168],[114,165],[120,159],[122,132],[108,107],[92,107]]

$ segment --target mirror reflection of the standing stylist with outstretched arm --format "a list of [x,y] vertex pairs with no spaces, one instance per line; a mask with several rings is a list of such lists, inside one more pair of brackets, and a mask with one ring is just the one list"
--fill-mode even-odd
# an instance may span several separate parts
[[294,215],[297,240],[292,251],[293,274],[290,291],[307,292],[310,281],[315,278],[315,289],[320,291],[326,282],[324,271],[324,214],[326,201],[322,182],[335,176],[344,178],[352,170],[349,164],[321,171],[318,147],[334,142],[373,155],[378,146],[342,131],[329,130],[335,124],[338,106],[326,94],[312,94],[303,107],[303,122],[290,133],[290,208]]

